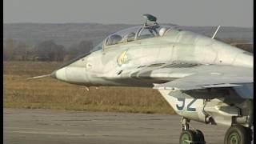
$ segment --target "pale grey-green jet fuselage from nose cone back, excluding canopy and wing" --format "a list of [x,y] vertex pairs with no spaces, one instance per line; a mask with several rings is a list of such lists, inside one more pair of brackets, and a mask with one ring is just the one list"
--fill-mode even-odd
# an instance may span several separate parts
[[[150,74],[130,75],[131,70],[148,66],[154,70],[167,63],[180,65],[179,71],[158,80]],[[114,46],[105,46],[70,65],[55,71],[64,82],[88,86],[149,86],[193,74],[190,65],[228,65],[253,67],[253,56],[246,51],[186,30],[170,30],[163,37],[147,38]],[[151,66],[150,66],[151,65]],[[183,68],[182,68],[182,65]],[[129,73],[128,73],[129,72]],[[145,81],[138,81],[142,77]],[[147,79],[147,80],[146,80]]]

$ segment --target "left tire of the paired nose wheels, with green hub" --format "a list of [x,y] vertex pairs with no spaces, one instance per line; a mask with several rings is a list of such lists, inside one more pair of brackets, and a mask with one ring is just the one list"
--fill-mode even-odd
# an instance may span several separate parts
[[182,130],[182,134],[179,137],[180,144],[189,144],[190,142],[194,142],[195,140],[196,134],[193,130]]

